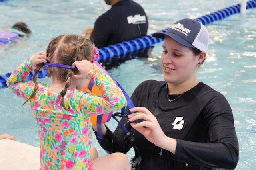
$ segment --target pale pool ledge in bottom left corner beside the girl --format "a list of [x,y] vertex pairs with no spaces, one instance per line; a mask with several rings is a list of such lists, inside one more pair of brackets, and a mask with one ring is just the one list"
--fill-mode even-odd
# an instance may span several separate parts
[[0,140],[0,170],[39,170],[39,148],[10,139]]

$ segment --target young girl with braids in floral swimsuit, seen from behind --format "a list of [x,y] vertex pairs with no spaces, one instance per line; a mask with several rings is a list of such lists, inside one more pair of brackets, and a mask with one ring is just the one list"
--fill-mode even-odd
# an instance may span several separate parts
[[[8,87],[31,105],[40,136],[41,170],[130,169],[128,158],[122,153],[90,161],[89,116],[109,113],[126,105],[122,91],[110,76],[90,62],[93,55],[90,40],[79,35],[60,35],[50,41],[46,53],[40,51],[30,57],[7,81]],[[49,66],[52,84],[39,84],[36,76],[43,62],[70,65],[77,70]],[[34,83],[26,82],[32,70]],[[93,81],[102,95],[80,92],[78,86],[85,78]]]

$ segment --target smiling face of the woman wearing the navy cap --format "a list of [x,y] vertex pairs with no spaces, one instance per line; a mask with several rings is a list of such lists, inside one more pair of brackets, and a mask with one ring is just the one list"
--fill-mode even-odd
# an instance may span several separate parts
[[180,84],[196,78],[198,56],[168,36],[164,38],[161,62],[166,82]]

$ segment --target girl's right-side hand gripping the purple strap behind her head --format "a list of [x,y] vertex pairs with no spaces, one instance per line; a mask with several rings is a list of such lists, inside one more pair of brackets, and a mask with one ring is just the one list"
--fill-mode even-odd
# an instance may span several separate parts
[[75,61],[72,64],[73,68],[77,68],[80,74],[76,74],[73,78],[85,79],[90,70],[94,70],[94,65],[88,60]]

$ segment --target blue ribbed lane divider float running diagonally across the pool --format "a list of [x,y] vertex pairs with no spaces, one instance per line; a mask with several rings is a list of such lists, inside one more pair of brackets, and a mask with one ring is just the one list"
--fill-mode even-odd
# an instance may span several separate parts
[[[246,9],[255,8],[256,0],[250,0],[246,4]],[[240,12],[240,4],[236,4],[234,6],[230,6],[224,8],[222,10],[207,14],[205,16],[196,18],[197,21],[200,21],[203,25],[207,25],[214,21],[222,20],[230,15],[236,14]],[[168,29],[168,28],[167,28]],[[162,32],[166,32],[167,29],[161,30]],[[108,47],[103,47],[99,49],[100,57],[96,59],[96,61],[100,63],[111,63],[114,57],[126,55],[128,53],[138,52],[142,49],[147,49],[151,47],[153,44],[156,44],[163,39],[152,37],[151,35],[146,35],[141,38],[133,39],[130,41],[124,41],[122,43],[117,43],[115,45],[110,45]],[[0,89],[6,88],[6,81],[11,73],[7,73],[5,75],[0,75]],[[34,75],[34,72],[31,72],[28,76],[27,80],[31,80],[31,77]],[[44,78],[47,76],[46,67],[42,70],[42,72],[38,73],[38,78]]]

